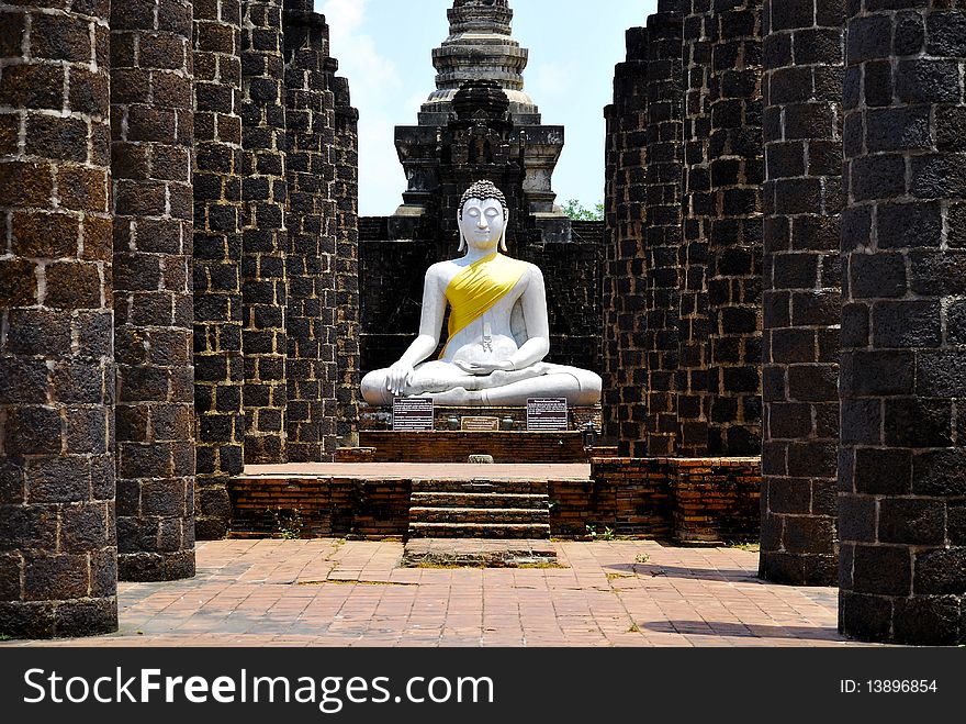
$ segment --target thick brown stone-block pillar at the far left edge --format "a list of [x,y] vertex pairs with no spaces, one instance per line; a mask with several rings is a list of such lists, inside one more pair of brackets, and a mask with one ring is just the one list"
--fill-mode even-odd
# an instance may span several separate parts
[[0,634],[117,628],[108,2],[0,5]]

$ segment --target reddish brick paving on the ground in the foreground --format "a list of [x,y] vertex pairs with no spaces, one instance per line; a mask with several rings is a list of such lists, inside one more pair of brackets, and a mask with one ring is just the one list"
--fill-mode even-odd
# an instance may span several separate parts
[[560,567],[404,568],[400,542],[198,544],[198,576],[120,583],[116,634],[2,646],[845,646],[832,588],[739,548],[552,542]]

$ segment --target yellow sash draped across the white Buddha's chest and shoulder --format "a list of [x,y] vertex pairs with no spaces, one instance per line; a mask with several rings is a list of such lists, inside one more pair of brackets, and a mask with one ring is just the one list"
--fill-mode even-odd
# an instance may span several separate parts
[[[453,277],[446,288],[446,298],[451,308],[449,338],[452,339],[506,297],[526,270],[526,263],[496,253],[471,264]],[[446,354],[446,349],[442,354]]]

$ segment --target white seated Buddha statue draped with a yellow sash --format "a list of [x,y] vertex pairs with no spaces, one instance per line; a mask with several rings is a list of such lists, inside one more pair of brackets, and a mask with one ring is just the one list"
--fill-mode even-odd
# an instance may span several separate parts
[[[459,211],[465,256],[433,265],[426,272],[419,336],[389,369],[362,380],[372,405],[398,397],[431,398],[451,406],[526,405],[529,398],[565,398],[571,406],[600,401],[600,377],[544,363],[550,324],[543,275],[506,252],[506,198],[490,181],[463,194]],[[439,345],[447,304],[451,308],[446,348]]]

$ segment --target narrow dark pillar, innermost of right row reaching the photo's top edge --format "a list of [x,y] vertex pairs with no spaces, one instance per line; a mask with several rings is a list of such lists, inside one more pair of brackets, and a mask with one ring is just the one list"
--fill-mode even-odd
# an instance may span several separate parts
[[677,356],[682,181],[682,16],[677,0],[661,0],[648,19],[648,111],[644,249],[647,311],[645,449],[677,453]]

